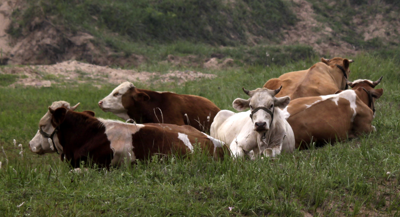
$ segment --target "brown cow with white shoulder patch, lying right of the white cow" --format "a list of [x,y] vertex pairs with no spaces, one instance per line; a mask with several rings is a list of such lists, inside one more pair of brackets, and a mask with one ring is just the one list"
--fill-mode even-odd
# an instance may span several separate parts
[[374,87],[381,79],[355,80],[347,82],[352,89],[290,101],[283,112],[293,129],[295,147],[304,149],[311,142],[320,146],[327,141],[343,141],[376,130],[371,122],[375,100],[382,95],[383,89]]

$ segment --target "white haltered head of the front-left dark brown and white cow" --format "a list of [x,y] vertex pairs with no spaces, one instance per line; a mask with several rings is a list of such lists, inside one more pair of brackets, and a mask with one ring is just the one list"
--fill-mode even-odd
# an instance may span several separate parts
[[[78,105],[79,103],[77,103],[75,106],[70,106],[66,101],[55,101],[48,106],[47,112],[39,121],[39,130],[37,130],[35,136],[29,141],[30,151],[37,154],[44,154],[53,153],[58,149],[58,151],[62,153],[60,145],[57,145],[58,138],[54,133],[55,126],[51,123],[51,118],[53,115],[52,113],[56,108],[59,107],[75,110]],[[52,141],[49,141],[49,137],[52,137],[51,139],[55,140],[54,144],[57,145],[56,147],[54,147]]]

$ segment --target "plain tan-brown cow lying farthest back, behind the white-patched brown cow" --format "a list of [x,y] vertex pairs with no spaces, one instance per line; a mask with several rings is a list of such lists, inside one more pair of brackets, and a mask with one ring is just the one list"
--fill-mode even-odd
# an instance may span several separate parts
[[321,62],[306,70],[292,71],[278,78],[271,78],[263,87],[276,89],[282,85],[283,88],[276,97],[288,95],[291,100],[333,94],[339,89],[347,89],[346,79],[350,74],[349,65],[353,61],[341,57],[321,58]]

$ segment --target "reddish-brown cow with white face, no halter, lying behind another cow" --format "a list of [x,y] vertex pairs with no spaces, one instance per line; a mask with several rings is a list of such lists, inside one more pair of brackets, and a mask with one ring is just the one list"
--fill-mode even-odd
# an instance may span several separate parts
[[139,89],[128,81],[113,89],[98,102],[98,106],[125,120],[191,125],[203,132],[209,130],[220,111],[214,103],[201,96]]

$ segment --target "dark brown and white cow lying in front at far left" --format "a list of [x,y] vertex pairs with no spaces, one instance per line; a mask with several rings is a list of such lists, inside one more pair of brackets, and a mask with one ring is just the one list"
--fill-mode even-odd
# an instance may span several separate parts
[[[124,123],[95,118],[92,111],[76,112],[66,107],[49,107],[49,113],[46,122],[40,121],[40,128],[49,130],[44,133],[52,135],[49,137],[61,159],[69,161],[73,168],[79,167],[81,161],[108,167],[154,154],[181,156],[192,152],[196,145],[215,158],[223,157],[226,150],[229,154],[223,142],[188,125]],[[29,141],[30,150],[38,154],[53,152],[52,141],[40,137],[46,136],[38,133]]]

